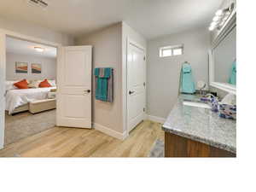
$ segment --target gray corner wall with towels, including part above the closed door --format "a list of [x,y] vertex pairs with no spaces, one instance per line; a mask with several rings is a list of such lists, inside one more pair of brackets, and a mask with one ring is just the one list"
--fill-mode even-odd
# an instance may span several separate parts
[[[93,46],[93,68],[113,67],[114,69],[114,101],[99,102],[93,99],[93,121],[124,135],[126,114],[126,44],[127,38],[147,47],[146,39],[125,22],[77,38],[75,44]],[[93,89],[95,79],[93,77]],[[94,90],[93,90],[94,92]],[[93,95],[94,96],[94,95]]]

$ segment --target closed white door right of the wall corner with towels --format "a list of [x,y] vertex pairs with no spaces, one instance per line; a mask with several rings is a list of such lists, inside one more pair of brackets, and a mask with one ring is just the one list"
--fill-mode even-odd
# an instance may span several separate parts
[[128,131],[145,119],[146,105],[145,52],[128,42],[127,48],[127,126]]

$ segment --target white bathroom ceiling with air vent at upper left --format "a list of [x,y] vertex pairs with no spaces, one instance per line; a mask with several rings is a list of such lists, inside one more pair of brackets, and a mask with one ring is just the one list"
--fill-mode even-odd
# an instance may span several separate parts
[[223,0],[45,0],[45,10],[26,0],[1,0],[0,15],[80,36],[124,20],[145,38],[207,26]]

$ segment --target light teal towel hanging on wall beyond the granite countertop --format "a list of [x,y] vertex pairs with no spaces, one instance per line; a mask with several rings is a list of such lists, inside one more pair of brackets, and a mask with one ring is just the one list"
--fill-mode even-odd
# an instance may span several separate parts
[[192,76],[192,68],[189,63],[183,63],[180,73],[180,91],[182,93],[195,93],[195,82]]

